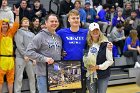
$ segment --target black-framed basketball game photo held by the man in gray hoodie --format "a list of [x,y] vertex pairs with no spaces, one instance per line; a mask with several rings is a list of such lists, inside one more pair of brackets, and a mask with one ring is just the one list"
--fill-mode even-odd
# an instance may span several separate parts
[[48,91],[82,88],[81,61],[55,61],[46,70]]

